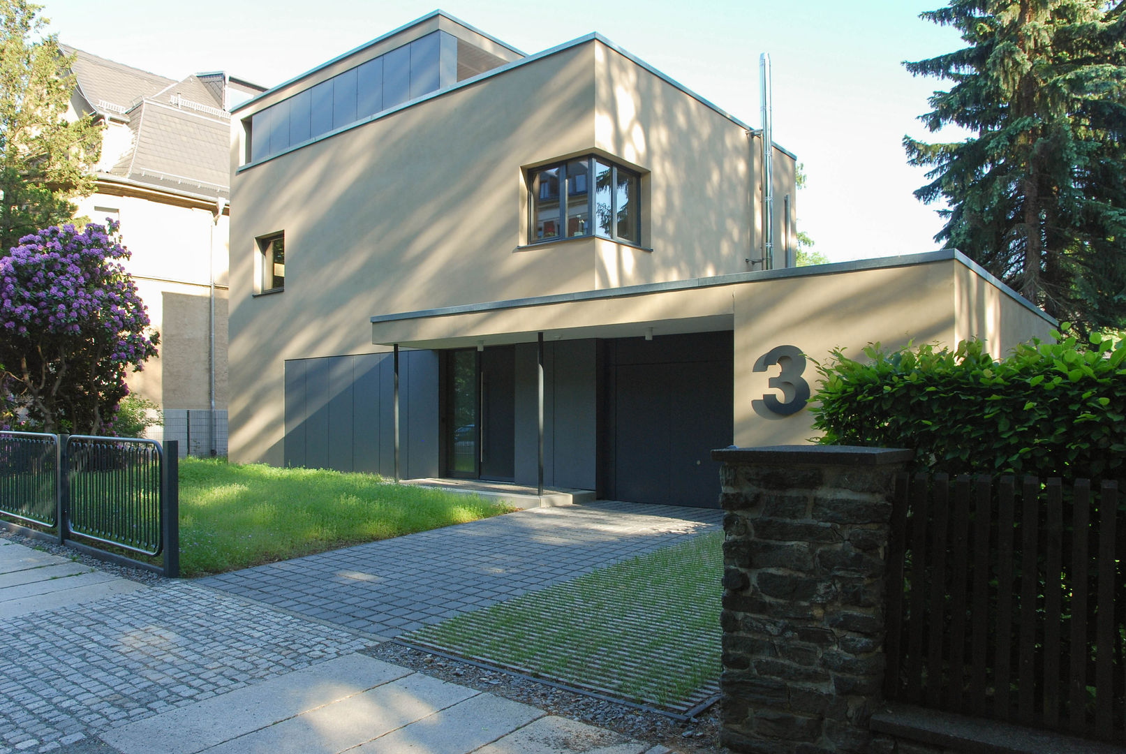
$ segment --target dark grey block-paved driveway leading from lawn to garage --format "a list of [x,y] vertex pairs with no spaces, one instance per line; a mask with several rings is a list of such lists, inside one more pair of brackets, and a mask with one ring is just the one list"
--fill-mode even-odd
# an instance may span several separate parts
[[540,508],[247,568],[200,583],[394,637],[716,528],[723,511]]

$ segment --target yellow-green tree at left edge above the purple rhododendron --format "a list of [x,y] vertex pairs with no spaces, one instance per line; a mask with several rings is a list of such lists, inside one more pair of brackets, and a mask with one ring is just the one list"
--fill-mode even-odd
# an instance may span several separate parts
[[0,0],[0,255],[39,228],[68,222],[70,199],[93,191],[101,128],[68,119],[71,59],[42,34],[42,6]]

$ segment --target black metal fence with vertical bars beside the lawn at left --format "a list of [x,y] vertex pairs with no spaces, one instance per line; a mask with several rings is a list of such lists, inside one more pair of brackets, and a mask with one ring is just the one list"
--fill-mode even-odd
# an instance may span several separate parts
[[[179,456],[155,440],[0,432],[0,524],[179,575]],[[115,550],[162,556],[162,566]]]

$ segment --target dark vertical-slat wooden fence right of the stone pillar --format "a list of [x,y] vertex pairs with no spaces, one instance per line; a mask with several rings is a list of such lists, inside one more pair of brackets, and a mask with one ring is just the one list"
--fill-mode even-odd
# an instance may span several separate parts
[[904,475],[886,698],[1126,742],[1121,508],[1114,482]]

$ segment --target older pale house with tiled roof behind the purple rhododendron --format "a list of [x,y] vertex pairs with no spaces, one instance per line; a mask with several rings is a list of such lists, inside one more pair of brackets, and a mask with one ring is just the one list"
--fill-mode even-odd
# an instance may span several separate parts
[[73,115],[106,126],[97,188],[78,216],[120,222],[126,269],[161,338],[160,356],[128,376],[129,388],[163,409],[154,437],[181,440],[181,452],[225,455],[229,108],[263,89],[224,73],[176,81],[63,51],[75,56]]

